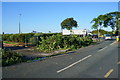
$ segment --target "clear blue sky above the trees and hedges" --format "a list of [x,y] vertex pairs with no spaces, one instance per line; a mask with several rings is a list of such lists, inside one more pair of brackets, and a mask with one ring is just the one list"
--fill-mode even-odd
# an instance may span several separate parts
[[[91,29],[93,18],[118,11],[118,2],[3,2],[2,31],[18,33],[19,14],[21,32],[34,31],[56,33],[61,31],[60,23],[73,17],[78,28]],[[111,28],[105,30],[110,31]]]

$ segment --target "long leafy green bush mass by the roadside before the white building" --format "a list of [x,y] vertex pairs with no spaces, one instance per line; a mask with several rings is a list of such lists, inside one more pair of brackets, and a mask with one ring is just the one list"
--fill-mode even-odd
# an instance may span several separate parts
[[79,49],[92,43],[89,37],[79,37],[78,35],[62,36],[53,35],[44,39],[41,37],[40,45],[37,50],[42,52],[49,52],[58,49]]

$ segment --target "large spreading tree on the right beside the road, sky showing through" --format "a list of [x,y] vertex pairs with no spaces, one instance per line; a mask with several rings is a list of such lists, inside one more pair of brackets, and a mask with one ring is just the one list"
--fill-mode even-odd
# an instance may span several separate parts
[[112,30],[118,35],[118,18],[120,17],[120,12],[110,12],[104,15],[99,15],[94,18],[91,23],[93,23],[92,28],[98,30],[102,27],[111,27]]

